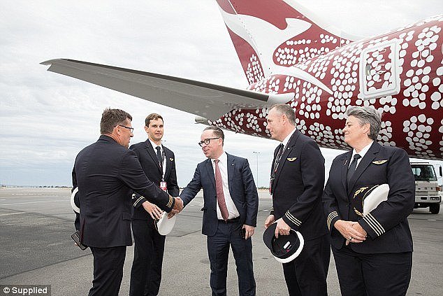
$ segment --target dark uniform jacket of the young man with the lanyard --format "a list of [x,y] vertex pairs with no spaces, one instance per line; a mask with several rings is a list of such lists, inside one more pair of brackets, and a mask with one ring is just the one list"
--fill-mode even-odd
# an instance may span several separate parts
[[[140,162],[145,175],[150,181],[154,182],[155,185],[159,186],[161,182],[161,176],[163,176],[163,171],[160,168],[159,160],[157,159],[157,152],[154,151],[152,144],[149,139],[144,142],[136,143],[129,147],[129,149],[133,150],[138,157],[138,161]],[[177,185],[177,174],[175,172],[175,156],[174,153],[163,146],[166,160],[166,171],[164,180],[168,185],[168,193],[177,197],[180,193],[180,188]],[[152,219],[150,214],[143,209],[143,206],[140,204],[140,200],[138,199],[140,195],[136,195],[136,199],[133,200],[133,211],[132,218],[133,219],[141,219],[148,220]]]

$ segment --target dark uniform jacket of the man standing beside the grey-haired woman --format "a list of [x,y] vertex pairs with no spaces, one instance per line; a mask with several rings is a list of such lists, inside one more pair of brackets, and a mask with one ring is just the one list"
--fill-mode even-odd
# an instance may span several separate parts
[[[272,171],[274,171],[275,149]],[[305,239],[315,239],[328,233],[321,194],[324,186],[324,158],[313,139],[293,132],[279,162],[273,181],[275,220],[283,218]]]

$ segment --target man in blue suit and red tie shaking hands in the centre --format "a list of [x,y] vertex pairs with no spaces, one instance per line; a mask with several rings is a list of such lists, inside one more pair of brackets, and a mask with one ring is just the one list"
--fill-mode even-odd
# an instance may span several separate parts
[[202,233],[208,236],[212,295],[226,295],[229,246],[237,266],[239,295],[256,295],[251,237],[259,196],[247,160],[224,153],[223,143],[222,129],[203,130],[198,144],[208,160],[197,165],[180,198],[187,205],[203,188]]

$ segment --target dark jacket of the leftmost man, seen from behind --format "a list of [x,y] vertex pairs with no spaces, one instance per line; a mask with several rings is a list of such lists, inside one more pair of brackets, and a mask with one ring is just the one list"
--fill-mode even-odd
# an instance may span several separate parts
[[87,246],[131,246],[131,192],[138,192],[164,211],[175,200],[149,181],[136,153],[110,136],[78,153],[73,178],[80,196],[80,241]]

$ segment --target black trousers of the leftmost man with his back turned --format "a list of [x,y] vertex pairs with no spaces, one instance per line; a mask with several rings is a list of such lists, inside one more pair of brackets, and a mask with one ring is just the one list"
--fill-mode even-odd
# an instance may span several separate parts
[[89,296],[118,296],[123,279],[126,246],[90,248],[94,256],[94,279]]

